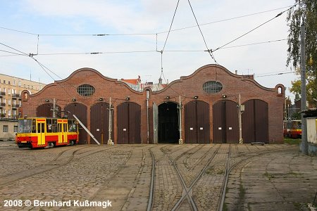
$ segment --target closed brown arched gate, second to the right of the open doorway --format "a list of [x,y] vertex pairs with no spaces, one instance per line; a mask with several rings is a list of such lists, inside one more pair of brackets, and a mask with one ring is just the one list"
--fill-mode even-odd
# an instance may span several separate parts
[[219,101],[213,105],[213,143],[239,143],[237,103]]

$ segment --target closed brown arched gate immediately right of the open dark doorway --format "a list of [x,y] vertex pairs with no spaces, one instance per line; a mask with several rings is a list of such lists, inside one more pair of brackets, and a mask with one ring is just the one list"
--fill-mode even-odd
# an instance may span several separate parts
[[185,143],[210,143],[209,104],[191,101],[185,105]]

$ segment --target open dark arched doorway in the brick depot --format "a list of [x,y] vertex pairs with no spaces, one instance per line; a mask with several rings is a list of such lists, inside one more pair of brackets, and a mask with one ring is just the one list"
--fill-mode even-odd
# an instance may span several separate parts
[[178,104],[166,102],[159,105],[159,143],[178,143]]

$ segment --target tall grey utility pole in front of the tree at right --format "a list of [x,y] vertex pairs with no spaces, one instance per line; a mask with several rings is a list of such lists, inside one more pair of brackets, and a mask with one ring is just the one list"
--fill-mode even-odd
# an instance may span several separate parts
[[[305,25],[304,18],[301,25],[301,107],[302,111],[306,110],[306,58],[305,58]],[[308,143],[307,143],[307,127],[306,118],[304,118],[304,113],[302,113],[302,153],[308,155]]]

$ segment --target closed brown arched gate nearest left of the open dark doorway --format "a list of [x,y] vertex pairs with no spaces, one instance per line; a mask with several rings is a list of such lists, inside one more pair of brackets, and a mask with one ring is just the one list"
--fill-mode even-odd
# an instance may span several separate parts
[[141,143],[141,106],[125,102],[117,106],[117,143]]

